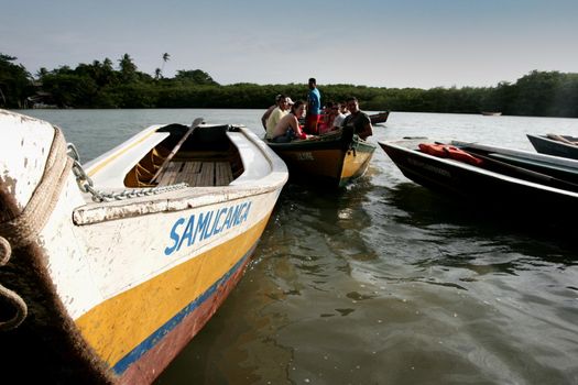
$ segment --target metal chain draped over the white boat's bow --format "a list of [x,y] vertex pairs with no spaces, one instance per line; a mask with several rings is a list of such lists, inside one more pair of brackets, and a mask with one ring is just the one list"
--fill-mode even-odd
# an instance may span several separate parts
[[188,187],[186,183],[179,183],[176,185],[162,186],[162,187],[146,187],[146,188],[133,188],[124,189],[117,193],[105,193],[94,188],[92,179],[86,174],[85,169],[80,165],[80,156],[73,143],[68,143],[67,154],[74,161],[73,173],[76,177],[76,184],[83,193],[89,193],[92,196],[92,200],[96,202],[108,202],[113,200],[123,200],[129,198],[138,198],[151,195],[157,195],[168,191],[178,190],[181,188]]

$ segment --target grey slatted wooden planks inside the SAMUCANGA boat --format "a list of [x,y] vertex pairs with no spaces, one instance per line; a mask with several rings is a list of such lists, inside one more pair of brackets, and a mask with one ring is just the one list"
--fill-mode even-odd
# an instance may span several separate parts
[[159,176],[159,186],[186,183],[192,187],[227,186],[232,182],[228,162],[170,162]]

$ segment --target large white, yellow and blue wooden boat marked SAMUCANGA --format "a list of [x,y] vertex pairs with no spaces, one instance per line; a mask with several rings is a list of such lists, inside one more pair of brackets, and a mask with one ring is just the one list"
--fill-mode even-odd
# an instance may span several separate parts
[[243,127],[153,125],[84,166],[47,122],[0,110],[0,346],[23,383],[152,383],[287,179]]

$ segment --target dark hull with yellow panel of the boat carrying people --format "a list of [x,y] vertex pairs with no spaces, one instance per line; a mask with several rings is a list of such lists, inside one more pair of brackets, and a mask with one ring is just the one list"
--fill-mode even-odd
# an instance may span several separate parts
[[346,127],[307,140],[266,142],[285,161],[290,179],[324,187],[343,187],[368,169],[375,145]]

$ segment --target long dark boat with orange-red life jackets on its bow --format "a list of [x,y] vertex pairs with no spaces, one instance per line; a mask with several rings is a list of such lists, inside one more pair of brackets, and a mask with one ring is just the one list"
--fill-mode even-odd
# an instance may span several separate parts
[[483,202],[522,215],[549,216],[576,226],[577,161],[424,138],[379,144],[407,178],[425,187],[468,202]]

